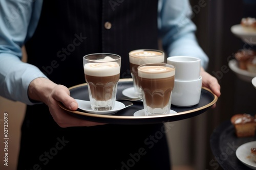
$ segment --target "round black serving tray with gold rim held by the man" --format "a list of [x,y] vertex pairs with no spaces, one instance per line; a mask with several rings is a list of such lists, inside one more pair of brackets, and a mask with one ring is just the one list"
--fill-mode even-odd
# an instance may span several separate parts
[[[132,79],[120,79],[117,88],[117,99],[123,97],[122,91],[126,88],[133,87]],[[74,99],[89,101],[89,93],[87,83],[79,84],[69,88],[70,95]],[[165,114],[165,115],[153,115],[153,116],[134,116],[134,113],[143,109],[143,103],[133,102],[134,104],[123,110],[118,111],[112,115],[92,114],[86,113],[83,110],[77,109],[76,111],[69,110],[63,104],[59,103],[59,106],[69,111],[70,114],[82,119],[91,120],[93,122],[106,123],[106,124],[121,124],[121,125],[138,125],[138,124],[157,124],[164,122],[173,122],[176,120],[190,118],[201,113],[204,113],[212,105],[217,102],[217,96],[207,88],[202,88],[201,98],[199,104],[191,107],[176,107],[171,106],[171,109],[177,113]]]

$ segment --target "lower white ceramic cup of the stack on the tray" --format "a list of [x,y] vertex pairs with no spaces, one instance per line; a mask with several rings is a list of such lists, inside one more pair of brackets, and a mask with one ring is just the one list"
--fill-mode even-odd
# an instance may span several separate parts
[[172,92],[172,105],[190,107],[199,103],[202,89],[202,77],[196,80],[176,80]]

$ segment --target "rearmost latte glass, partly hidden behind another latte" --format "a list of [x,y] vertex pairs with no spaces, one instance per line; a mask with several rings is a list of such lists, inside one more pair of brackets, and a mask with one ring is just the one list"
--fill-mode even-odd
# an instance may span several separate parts
[[163,63],[164,53],[159,50],[141,49],[129,53],[130,69],[135,88],[135,95],[141,97],[138,79],[138,66],[147,63]]

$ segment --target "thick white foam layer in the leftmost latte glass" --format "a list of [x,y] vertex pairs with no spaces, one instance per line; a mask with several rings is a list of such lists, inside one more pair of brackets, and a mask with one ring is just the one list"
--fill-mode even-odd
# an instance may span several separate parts
[[97,77],[117,75],[120,73],[120,65],[117,62],[109,62],[113,60],[106,56],[104,59],[97,60],[100,62],[84,64],[84,74]]

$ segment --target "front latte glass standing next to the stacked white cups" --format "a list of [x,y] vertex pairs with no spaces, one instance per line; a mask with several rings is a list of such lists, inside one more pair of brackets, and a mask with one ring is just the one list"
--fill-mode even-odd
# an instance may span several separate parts
[[174,88],[175,67],[165,63],[138,67],[145,115],[169,114]]

